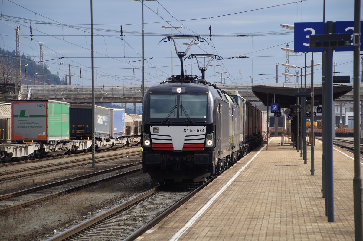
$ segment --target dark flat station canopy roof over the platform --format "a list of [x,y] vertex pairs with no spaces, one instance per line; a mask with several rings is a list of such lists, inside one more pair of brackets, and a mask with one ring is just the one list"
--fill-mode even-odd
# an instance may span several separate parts
[[[306,92],[311,92],[311,88],[306,88],[306,90]],[[333,85],[333,100],[339,98],[340,96],[343,96],[351,90],[351,85]],[[301,89],[256,85],[252,86],[252,92],[257,98],[261,100],[261,102],[265,106],[267,106],[267,98],[269,98],[269,105],[271,103],[279,103],[279,106],[282,108],[290,108],[290,105],[297,104],[297,97],[295,97],[295,92],[301,92]],[[303,92],[305,92],[305,88],[303,88]],[[311,97],[307,97],[306,100],[311,100]],[[316,100],[318,100],[319,103],[315,103]],[[322,87],[314,87],[315,105],[322,105],[322,101]]]

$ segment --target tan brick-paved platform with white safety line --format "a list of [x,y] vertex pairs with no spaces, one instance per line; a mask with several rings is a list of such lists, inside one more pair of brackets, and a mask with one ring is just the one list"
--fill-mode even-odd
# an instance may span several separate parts
[[304,164],[280,142],[270,138],[269,150],[250,152],[137,240],[354,240],[353,154],[334,148],[335,222],[328,223],[322,142],[314,176],[310,147]]

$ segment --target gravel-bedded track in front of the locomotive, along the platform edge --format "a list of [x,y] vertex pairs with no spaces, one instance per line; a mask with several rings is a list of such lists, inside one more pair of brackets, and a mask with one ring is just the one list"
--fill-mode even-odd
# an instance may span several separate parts
[[[211,181],[211,180],[210,180]],[[181,206],[208,183],[191,191],[173,191],[159,186],[92,217],[47,241],[135,240]]]

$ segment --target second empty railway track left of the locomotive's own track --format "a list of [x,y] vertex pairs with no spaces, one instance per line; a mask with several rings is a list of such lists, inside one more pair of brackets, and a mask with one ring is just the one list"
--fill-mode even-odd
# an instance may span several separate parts
[[[110,160],[115,160],[115,158],[123,158],[127,156],[136,156],[139,155],[140,151],[131,151],[121,154],[113,154],[113,155],[105,155],[98,157],[98,160],[95,160],[96,163],[98,162],[105,162]],[[21,178],[21,177],[28,177],[28,176],[34,176],[38,174],[48,173],[48,172],[55,172],[58,170],[64,170],[69,168],[74,168],[77,166],[83,166],[91,163],[91,158],[83,158],[78,160],[72,160],[72,161],[65,161],[65,162],[58,162],[54,164],[48,164],[48,165],[40,165],[40,166],[33,166],[29,168],[23,168],[23,169],[16,169],[11,171],[5,171],[0,172],[0,182],[7,181],[11,179]],[[40,170],[43,169],[43,170]]]

